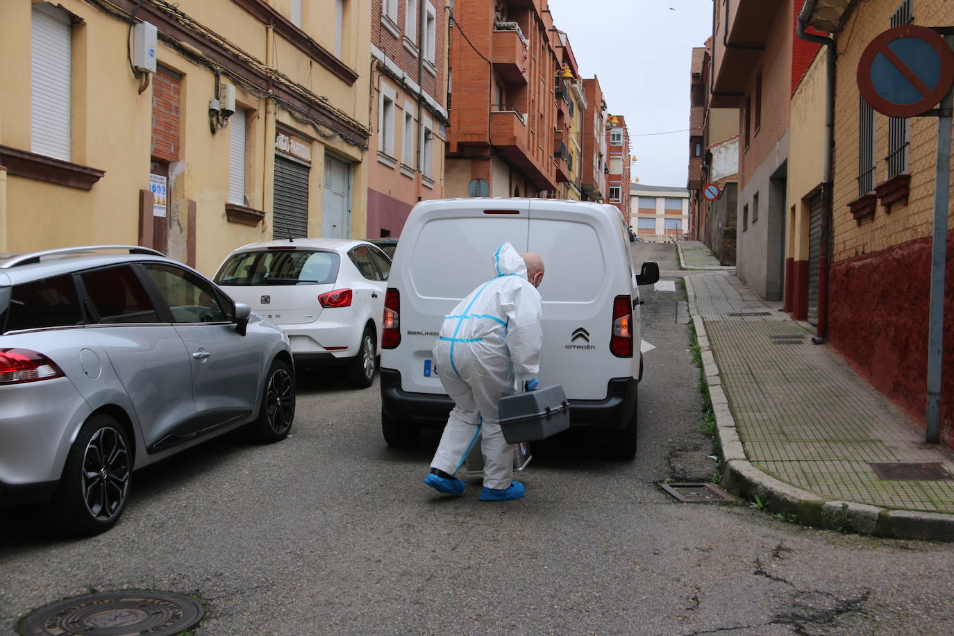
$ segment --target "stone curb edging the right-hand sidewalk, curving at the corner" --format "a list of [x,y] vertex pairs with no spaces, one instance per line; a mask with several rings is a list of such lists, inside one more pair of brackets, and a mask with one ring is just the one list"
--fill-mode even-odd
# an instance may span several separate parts
[[[680,258],[681,254],[680,250]],[[818,493],[782,482],[749,462],[738,437],[728,396],[722,388],[705,323],[696,310],[693,281],[688,276],[683,279],[686,281],[689,314],[701,353],[706,390],[716,416],[716,440],[722,458],[722,487],[742,499],[757,497],[772,512],[795,513],[798,523],[804,525],[895,539],[954,542],[954,515],[827,500]]]

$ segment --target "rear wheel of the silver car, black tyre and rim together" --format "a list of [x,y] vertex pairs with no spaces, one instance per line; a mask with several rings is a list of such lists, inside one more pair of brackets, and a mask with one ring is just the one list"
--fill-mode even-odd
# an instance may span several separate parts
[[132,476],[126,432],[114,418],[93,415],[70,447],[49,506],[51,521],[77,534],[109,530],[126,508]]

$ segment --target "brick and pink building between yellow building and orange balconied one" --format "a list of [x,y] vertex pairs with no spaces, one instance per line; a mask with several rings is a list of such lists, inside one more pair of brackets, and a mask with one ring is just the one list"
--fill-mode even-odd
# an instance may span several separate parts
[[415,203],[444,196],[446,34],[443,2],[371,2],[366,236],[399,236]]

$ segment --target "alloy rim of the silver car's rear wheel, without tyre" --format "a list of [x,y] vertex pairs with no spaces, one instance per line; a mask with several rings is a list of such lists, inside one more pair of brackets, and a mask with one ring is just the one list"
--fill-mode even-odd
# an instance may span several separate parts
[[99,521],[110,521],[123,508],[129,493],[129,449],[122,434],[110,426],[93,433],[83,453],[83,501]]

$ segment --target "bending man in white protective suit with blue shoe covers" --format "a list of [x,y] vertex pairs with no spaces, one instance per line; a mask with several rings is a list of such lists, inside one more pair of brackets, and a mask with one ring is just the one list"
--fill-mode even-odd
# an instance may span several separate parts
[[486,502],[519,499],[524,485],[514,482],[514,444],[504,440],[498,401],[518,387],[533,390],[539,380],[543,260],[519,255],[505,242],[493,255],[495,277],[461,300],[444,318],[433,355],[441,383],[454,400],[444,435],[425,483],[451,495],[464,492],[455,477],[474,443],[484,453]]

